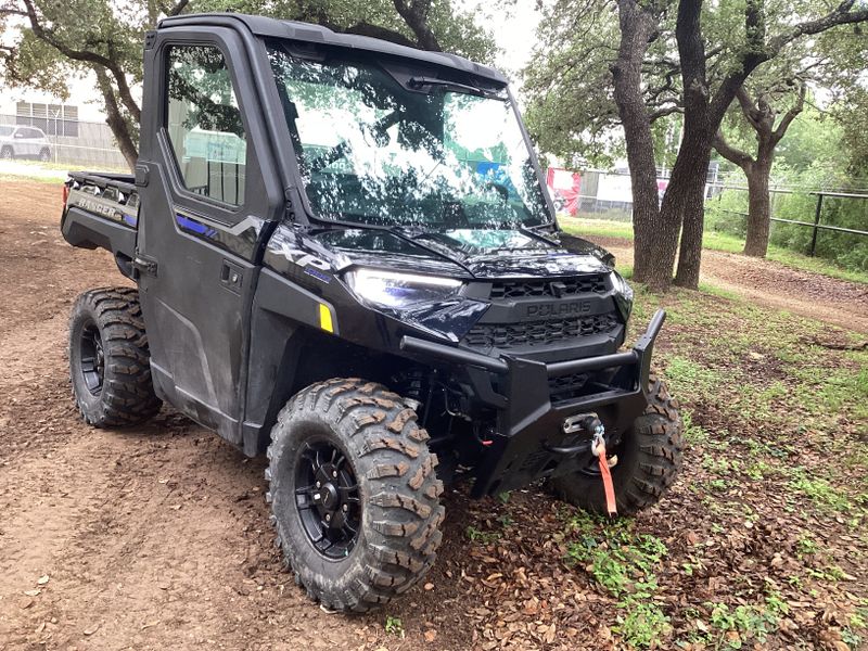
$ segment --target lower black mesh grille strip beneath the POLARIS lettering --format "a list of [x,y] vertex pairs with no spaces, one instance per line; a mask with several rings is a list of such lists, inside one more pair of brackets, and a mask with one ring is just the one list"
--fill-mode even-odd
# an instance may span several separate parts
[[480,348],[545,346],[611,332],[616,327],[617,319],[611,314],[524,323],[477,323],[464,335],[464,343]]

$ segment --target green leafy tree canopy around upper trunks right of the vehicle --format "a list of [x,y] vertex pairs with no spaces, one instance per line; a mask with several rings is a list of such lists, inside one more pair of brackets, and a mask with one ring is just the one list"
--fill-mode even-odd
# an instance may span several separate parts
[[[643,101],[653,125],[656,158],[672,165],[681,127],[682,81],[675,38],[675,0],[649,3],[656,22],[642,63]],[[746,0],[704,3],[702,38],[705,43],[709,88],[713,95],[727,76],[741,65],[745,51],[756,44],[745,28]],[[796,22],[828,11],[817,0],[765,0],[756,29],[777,47],[789,38]],[[527,123],[540,149],[565,164],[611,165],[624,154],[611,68],[618,51],[616,0],[552,0],[542,7],[538,46],[524,71],[528,99]],[[822,88],[822,98],[843,97],[868,66],[868,39],[859,26],[842,25],[809,39],[793,39],[762,64],[745,82],[749,94],[773,102],[779,114],[797,100],[802,84]],[[738,104],[725,124],[727,138],[746,144],[753,131]]]

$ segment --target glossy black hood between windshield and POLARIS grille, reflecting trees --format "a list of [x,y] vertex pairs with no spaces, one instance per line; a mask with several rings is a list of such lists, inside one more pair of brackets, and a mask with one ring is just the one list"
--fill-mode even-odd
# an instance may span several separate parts
[[316,240],[342,260],[360,265],[470,278],[534,278],[599,273],[614,257],[596,244],[564,233],[454,229],[441,232],[333,229]]

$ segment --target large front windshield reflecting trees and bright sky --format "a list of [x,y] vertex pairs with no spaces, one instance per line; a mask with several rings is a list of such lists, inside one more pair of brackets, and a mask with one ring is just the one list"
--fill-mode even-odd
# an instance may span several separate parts
[[472,94],[430,74],[279,48],[270,59],[317,216],[426,230],[551,220],[502,91]]

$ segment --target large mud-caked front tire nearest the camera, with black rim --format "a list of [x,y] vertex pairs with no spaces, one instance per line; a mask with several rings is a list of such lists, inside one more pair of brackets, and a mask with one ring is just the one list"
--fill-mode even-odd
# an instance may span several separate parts
[[271,521],[298,585],[326,608],[368,612],[412,587],[441,544],[437,457],[416,412],[380,384],[329,380],[271,430]]

